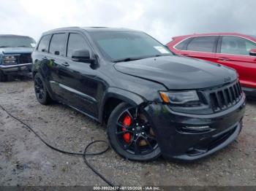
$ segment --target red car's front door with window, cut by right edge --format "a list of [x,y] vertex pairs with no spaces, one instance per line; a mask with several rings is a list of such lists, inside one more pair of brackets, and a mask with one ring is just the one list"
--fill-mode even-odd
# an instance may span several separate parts
[[256,43],[239,36],[222,36],[217,50],[217,62],[229,66],[239,74],[242,86],[256,88],[256,57],[249,51]]

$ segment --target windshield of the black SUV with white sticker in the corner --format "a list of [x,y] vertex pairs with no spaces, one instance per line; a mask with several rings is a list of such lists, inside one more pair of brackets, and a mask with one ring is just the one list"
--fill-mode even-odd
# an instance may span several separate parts
[[92,32],[95,44],[110,61],[132,61],[173,55],[164,45],[142,32]]

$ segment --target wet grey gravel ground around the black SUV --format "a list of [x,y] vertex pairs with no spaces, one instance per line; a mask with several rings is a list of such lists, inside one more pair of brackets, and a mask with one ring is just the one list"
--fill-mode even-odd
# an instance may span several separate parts
[[[34,127],[51,144],[82,151],[91,139],[106,140],[105,129],[61,104],[42,106],[29,80],[0,83],[0,104]],[[89,157],[102,174],[121,185],[256,185],[256,102],[248,101],[238,140],[197,163],[160,158],[138,163],[113,150]],[[99,146],[97,146],[100,149]],[[0,185],[105,185],[82,157],[55,152],[0,109]]]

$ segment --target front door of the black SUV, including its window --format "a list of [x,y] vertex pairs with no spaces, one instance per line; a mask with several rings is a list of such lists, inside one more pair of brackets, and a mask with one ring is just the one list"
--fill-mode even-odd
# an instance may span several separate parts
[[69,105],[95,117],[98,112],[97,69],[93,69],[90,63],[72,61],[72,53],[75,50],[89,50],[92,53],[86,37],[78,33],[69,33],[67,55],[64,64],[59,67],[59,74],[63,79],[60,87],[64,90]]

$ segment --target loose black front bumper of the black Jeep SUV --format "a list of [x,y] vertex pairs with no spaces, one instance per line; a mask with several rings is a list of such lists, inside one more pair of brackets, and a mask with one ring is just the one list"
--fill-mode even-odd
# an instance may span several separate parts
[[245,95],[230,109],[214,114],[178,113],[164,104],[150,104],[145,110],[154,124],[163,157],[192,161],[217,152],[237,138]]

